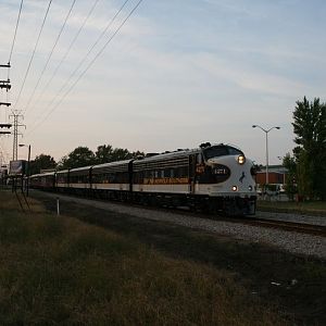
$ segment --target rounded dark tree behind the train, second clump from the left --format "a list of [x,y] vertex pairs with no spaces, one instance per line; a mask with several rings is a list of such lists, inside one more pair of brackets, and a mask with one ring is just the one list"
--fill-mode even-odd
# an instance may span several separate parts
[[88,147],[77,147],[68,155],[61,159],[60,170],[75,168],[95,164],[95,154]]

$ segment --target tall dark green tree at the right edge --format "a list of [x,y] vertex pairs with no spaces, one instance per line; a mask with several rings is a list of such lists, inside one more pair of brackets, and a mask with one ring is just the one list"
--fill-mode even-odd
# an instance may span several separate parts
[[293,153],[299,192],[309,198],[326,198],[326,104],[319,99],[297,101],[293,112]]

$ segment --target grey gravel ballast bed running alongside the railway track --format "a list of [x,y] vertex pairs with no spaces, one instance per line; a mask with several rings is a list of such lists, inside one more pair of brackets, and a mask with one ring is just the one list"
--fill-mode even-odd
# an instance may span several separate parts
[[[127,206],[118,203],[112,203],[112,202],[87,200],[87,199],[80,199],[80,198],[74,198],[67,196],[57,196],[53,193],[47,193],[47,195],[52,197],[59,197],[61,201],[68,200],[76,203],[87,204],[93,208],[114,211],[116,213],[127,214],[136,217],[154,220],[154,221],[166,221],[170,223],[174,223],[190,228],[208,230],[208,231],[216,233],[218,235],[233,237],[235,239],[272,244],[292,253],[300,253],[300,254],[317,256],[321,259],[326,259],[326,238],[324,237],[299,234],[299,233],[290,233],[290,231],[274,229],[274,228],[249,226],[249,225],[229,223],[223,221],[213,221],[209,218],[197,218],[197,217],[188,216],[186,213],[185,215],[183,215],[183,214],[176,214],[170,212],[148,210],[146,208],[143,209],[131,208],[131,206]],[[64,203],[62,202],[61,205],[63,206]],[[261,217],[261,215],[268,216],[268,218],[271,216],[272,217],[274,216],[273,213],[259,212],[258,216]],[[279,217],[279,213],[276,215],[278,215]],[[291,214],[286,214],[286,215],[291,215]],[[274,217],[277,218],[277,216]],[[312,217],[318,218],[315,216],[309,216],[309,217],[304,216],[304,218],[309,218],[309,220]],[[294,215],[288,216],[288,218],[294,218]],[[292,221],[292,220],[288,220],[288,221]],[[298,222],[297,217],[296,221]]]

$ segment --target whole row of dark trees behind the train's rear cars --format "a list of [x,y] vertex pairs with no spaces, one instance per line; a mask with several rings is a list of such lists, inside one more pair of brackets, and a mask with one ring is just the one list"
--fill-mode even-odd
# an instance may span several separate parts
[[97,151],[91,151],[88,147],[77,147],[59,162],[48,154],[40,154],[29,163],[29,174],[38,174],[42,170],[65,170],[76,168],[92,164],[110,163],[115,161],[135,159],[143,156],[141,151],[130,152],[123,148],[113,148],[111,145],[101,145]]

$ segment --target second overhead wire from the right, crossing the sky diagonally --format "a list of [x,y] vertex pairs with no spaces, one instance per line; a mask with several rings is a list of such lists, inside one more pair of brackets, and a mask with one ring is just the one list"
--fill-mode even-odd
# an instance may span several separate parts
[[[118,14],[123,11],[123,9],[125,8],[125,5],[127,4],[129,0],[125,0],[124,3],[121,5],[121,8],[117,10],[117,12],[115,13],[115,15],[112,17],[112,20],[106,24],[105,28],[101,32],[101,34],[99,35],[99,37],[97,38],[97,40],[93,42],[93,45],[90,47],[90,49],[88,50],[88,52],[84,55],[84,58],[80,60],[80,62],[77,64],[76,68],[73,71],[73,73],[70,75],[70,77],[66,79],[66,82],[62,85],[62,87],[60,88],[60,90],[54,95],[54,97],[51,99],[50,103],[48,104],[48,108],[51,108],[51,105],[54,103],[54,101],[57,100],[57,98],[63,92],[63,90],[67,87],[67,85],[70,84],[70,82],[73,79],[73,77],[76,75],[76,73],[78,72],[78,70],[80,68],[80,66],[86,62],[86,60],[88,59],[88,57],[90,55],[90,53],[92,52],[92,50],[96,48],[96,46],[99,43],[99,41],[104,37],[104,35],[106,34],[108,29],[111,27],[111,25],[114,23],[114,21],[116,20],[116,17],[118,16]],[[142,0],[141,0],[142,1]],[[141,2],[140,1],[140,2]],[[136,9],[138,8],[140,3],[138,3],[136,5]],[[47,110],[46,109],[46,110]],[[46,112],[46,110],[43,112]],[[45,116],[46,114],[41,115],[40,120],[42,118],[42,116]],[[35,127],[35,125],[37,125],[38,122],[35,122],[34,125],[32,126],[32,128]],[[32,133],[32,131],[30,131]],[[27,134],[29,135],[29,134]]]

